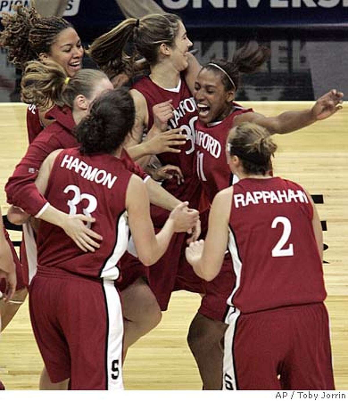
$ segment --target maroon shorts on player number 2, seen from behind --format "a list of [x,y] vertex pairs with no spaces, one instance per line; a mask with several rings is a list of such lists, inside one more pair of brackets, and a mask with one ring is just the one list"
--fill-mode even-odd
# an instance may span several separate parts
[[224,390],[334,390],[323,303],[249,314],[231,308],[227,319]]

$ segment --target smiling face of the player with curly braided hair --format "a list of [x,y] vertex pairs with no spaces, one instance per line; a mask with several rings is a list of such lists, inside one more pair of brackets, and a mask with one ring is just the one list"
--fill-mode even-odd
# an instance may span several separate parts
[[82,67],[83,54],[84,49],[76,30],[66,28],[57,35],[50,53],[45,57],[60,64],[69,77],[74,77]]

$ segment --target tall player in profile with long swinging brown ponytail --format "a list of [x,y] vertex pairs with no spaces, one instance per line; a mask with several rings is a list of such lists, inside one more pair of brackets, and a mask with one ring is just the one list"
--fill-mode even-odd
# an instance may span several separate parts
[[[149,63],[151,71],[149,77],[138,81],[130,91],[137,114],[136,126],[132,132],[135,144],[141,142],[143,129],[147,130],[145,141],[149,140],[156,136],[163,126],[167,128],[168,119],[170,128],[182,128],[182,133],[186,134],[188,140],[180,147],[181,152],[158,154],[158,158],[163,165],[178,166],[184,182],[172,176],[164,180],[162,185],[176,198],[188,200],[190,207],[197,208],[201,191],[197,180],[193,180],[194,141],[191,131],[193,121],[197,119],[197,110],[190,87],[193,89],[193,77],[197,75],[199,65],[188,53],[192,43],[178,16],[152,14],[139,20],[124,20],[96,39],[88,49],[88,54],[108,75],[118,73],[120,69],[125,71],[127,65],[131,71],[129,58],[124,57],[123,52],[123,47],[130,38],[133,38],[139,55],[145,57]],[[157,107],[156,113],[153,111],[154,107]],[[131,149],[128,149],[132,156]],[[146,166],[149,158],[140,162]],[[168,213],[164,209],[151,207],[151,218],[156,229],[162,227],[167,216]],[[203,290],[201,280],[192,274],[190,267],[186,263],[180,267],[180,255],[183,253],[185,242],[185,235],[176,235],[166,255],[157,263],[158,268],[149,272],[149,284],[161,310],[167,309],[170,294],[174,289],[199,293]]]

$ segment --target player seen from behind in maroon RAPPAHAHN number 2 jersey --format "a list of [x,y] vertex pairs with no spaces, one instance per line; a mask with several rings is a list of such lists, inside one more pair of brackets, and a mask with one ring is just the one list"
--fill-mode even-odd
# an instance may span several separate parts
[[240,180],[215,196],[206,240],[186,257],[208,281],[219,274],[226,243],[233,259],[223,389],[331,390],[321,224],[299,184],[270,174],[275,151],[257,124],[230,131],[227,161]]

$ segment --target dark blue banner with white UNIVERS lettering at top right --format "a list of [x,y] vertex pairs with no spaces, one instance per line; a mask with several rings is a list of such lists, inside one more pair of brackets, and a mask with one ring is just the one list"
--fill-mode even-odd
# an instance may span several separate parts
[[188,27],[348,26],[348,0],[161,0]]

